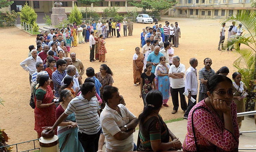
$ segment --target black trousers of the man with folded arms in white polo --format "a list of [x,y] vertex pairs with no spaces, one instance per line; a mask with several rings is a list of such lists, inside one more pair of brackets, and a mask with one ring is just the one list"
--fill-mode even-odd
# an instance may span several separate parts
[[187,102],[186,102],[185,96],[183,95],[183,93],[185,91],[185,87],[177,88],[177,89],[173,89],[171,87],[170,91],[171,91],[171,95],[172,95],[173,110],[178,111],[178,108],[179,108],[178,93],[180,93],[181,109],[183,111],[187,110]]

